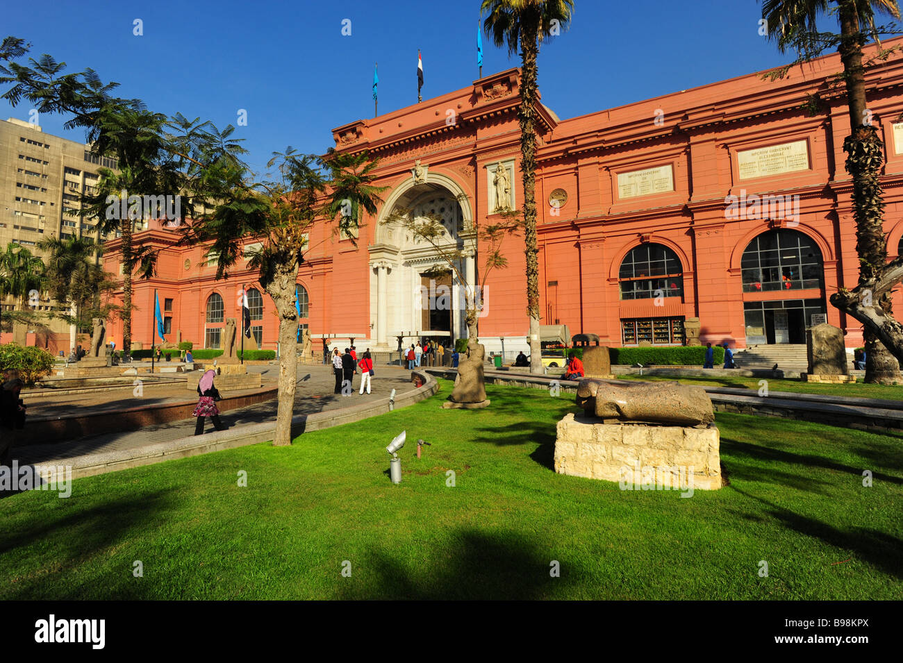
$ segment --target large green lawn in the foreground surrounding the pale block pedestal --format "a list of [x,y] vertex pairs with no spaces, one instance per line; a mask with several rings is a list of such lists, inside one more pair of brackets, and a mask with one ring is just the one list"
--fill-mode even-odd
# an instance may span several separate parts
[[[293,447],[0,500],[0,599],[903,598],[895,438],[719,414],[730,486],[622,492],[550,469],[570,398],[489,386],[489,410],[440,410],[450,385]],[[403,428],[396,486],[384,447]]]

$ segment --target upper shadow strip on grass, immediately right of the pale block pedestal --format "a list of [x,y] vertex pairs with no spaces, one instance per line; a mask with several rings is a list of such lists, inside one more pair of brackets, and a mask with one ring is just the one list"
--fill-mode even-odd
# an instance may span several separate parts
[[[812,454],[795,454],[790,451],[784,451],[773,447],[761,447],[759,445],[749,444],[749,442],[740,442],[730,437],[721,438],[721,446],[725,448],[732,456],[746,456],[750,459],[759,459],[772,464],[781,465],[804,465],[805,467],[821,467],[827,470],[835,470],[845,474],[853,474],[862,476],[862,470],[870,469],[868,467],[852,467],[851,465],[843,465],[835,463],[824,456],[814,456]],[[750,465],[731,466],[731,475],[734,477],[742,477],[752,481],[766,481],[769,483],[777,483],[780,485],[792,485],[795,488],[803,490],[815,490],[814,486],[807,486],[805,483],[813,483],[815,480],[803,480],[799,474],[780,472],[772,468],[759,468]],[[882,474],[872,471],[875,479],[886,481],[888,483],[903,484],[903,479],[890,474]],[[817,482],[828,485],[825,482]],[[822,493],[822,491],[816,491]]]

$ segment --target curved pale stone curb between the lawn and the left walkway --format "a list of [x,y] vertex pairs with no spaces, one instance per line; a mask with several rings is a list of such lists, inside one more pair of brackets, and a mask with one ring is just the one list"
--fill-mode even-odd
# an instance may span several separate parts
[[[395,409],[424,401],[424,399],[430,398],[436,391],[439,391],[439,382],[436,382],[432,375],[421,374],[424,377],[424,385],[411,391],[405,391],[402,394],[396,394]],[[389,399],[385,398],[349,408],[340,408],[339,410],[301,414],[292,419],[292,435],[300,435],[311,430],[321,430],[321,428],[332,428],[333,426],[368,419],[389,411],[391,411],[389,410]],[[267,421],[197,437],[182,437],[169,440],[168,442],[147,445],[146,447],[106,451],[84,456],[72,456],[70,458],[53,458],[45,463],[35,465],[71,465],[72,477],[81,478],[116,472],[129,467],[152,465],[164,460],[199,456],[200,454],[208,454],[213,451],[268,442],[273,439],[274,433],[275,421]]]

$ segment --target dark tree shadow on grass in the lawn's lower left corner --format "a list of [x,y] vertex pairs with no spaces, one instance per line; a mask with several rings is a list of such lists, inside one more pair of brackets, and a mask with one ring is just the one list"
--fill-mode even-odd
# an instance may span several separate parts
[[[149,519],[163,519],[163,513],[171,503],[170,498],[171,495],[163,491],[133,494],[118,500],[105,499],[96,506],[78,509],[68,515],[65,511],[57,511],[59,516],[56,518],[52,511],[39,511],[36,505],[31,504],[33,511],[41,513],[41,518],[28,520],[23,527],[16,529],[10,529],[7,525],[0,531],[0,557],[10,555],[18,548],[47,548],[46,555],[52,563],[29,576],[6,576],[0,596],[5,600],[84,598],[80,587],[94,585],[95,593],[98,588],[103,588],[105,593],[109,593],[108,596],[115,597],[117,590],[132,578],[131,562],[122,568],[120,580],[107,577],[97,584],[86,577],[80,586],[77,585],[72,579],[73,570],[84,566],[90,557],[107,556],[108,551],[129,539],[129,532],[136,525]],[[5,566],[5,575],[10,574],[8,564]],[[134,591],[131,593],[134,594]]]

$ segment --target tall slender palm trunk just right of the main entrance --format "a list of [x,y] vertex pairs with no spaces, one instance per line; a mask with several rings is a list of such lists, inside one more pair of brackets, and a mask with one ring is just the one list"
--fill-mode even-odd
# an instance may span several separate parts
[[521,27],[520,45],[520,170],[524,180],[524,244],[526,248],[526,314],[530,319],[530,373],[544,373],[539,338],[539,261],[536,254],[536,56],[539,53],[538,25]]

